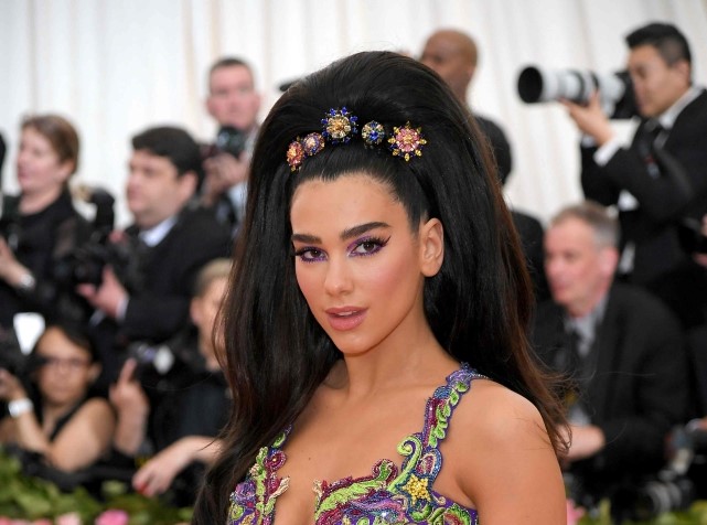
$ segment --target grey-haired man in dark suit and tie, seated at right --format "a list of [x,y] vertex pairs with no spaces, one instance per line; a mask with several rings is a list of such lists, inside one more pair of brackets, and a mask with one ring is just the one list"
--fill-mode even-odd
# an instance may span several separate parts
[[553,301],[538,307],[540,358],[571,382],[566,468],[583,492],[608,495],[664,464],[664,439],[684,421],[688,385],[681,328],[658,300],[614,283],[617,224],[591,202],[563,210],[545,235]]

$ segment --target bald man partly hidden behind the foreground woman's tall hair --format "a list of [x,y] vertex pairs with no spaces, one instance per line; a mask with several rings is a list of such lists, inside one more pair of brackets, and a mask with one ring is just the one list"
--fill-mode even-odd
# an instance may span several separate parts
[[[476,44],[471,36],[461,31],[444,29],[427,39],[420,62],[441,76],[457,98],[467,105],[467,92],[476,71],[478,57]],[[499,176],[505,183],[513,167],[511,144],[495,122],[475,113],[474,117],[491,142],[499,164]]]

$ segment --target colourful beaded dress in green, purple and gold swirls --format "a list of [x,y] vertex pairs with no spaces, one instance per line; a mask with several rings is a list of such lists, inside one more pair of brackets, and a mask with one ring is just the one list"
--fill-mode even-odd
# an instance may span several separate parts
[[[476,511],[432,489],[442,467],[439,446],[447,436],[454,407],[471,382],[483,377],[467,364],[447,377],[447,384],[427,400],[425,427],[398,444],[403,465],[379,460],[365,478],[315,482],[315,525],[478,525]],[[227,525],[271,525],[275,503],[289,483],[277,471],[286,461],[282,447],[291,427],[271,447],[263,447],[246,479],[231,494]]]

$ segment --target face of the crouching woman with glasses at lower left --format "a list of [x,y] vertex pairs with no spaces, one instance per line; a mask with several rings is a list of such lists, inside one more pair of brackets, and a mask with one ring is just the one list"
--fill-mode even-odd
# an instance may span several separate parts
[[56,328],[47,329],[35,352],[44,362],[36,383],[45,404],[64,406],[81,400],[98,376],[99,367],[90,362],[88,351]]

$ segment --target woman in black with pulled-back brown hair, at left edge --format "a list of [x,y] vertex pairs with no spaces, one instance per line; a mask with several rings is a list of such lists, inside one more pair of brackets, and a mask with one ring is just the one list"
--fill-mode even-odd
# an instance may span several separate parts
[[78,135],[56,115],[21,125],[18,196],[4,196],[0,216],[0,326],[39,312],[46,322],[81,322],[89,311],[57,275],[57,261],[88,239],[89,223],[74,208],[68,180],[78,165]]

